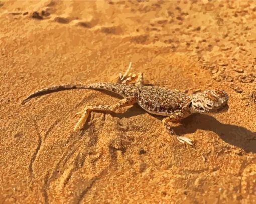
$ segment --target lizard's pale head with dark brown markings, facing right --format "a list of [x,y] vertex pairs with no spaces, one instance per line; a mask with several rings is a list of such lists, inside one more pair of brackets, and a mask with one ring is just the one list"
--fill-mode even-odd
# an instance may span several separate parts
[[228,95],[220,90],[207,90],[192,94],[189,109],[191,113],[216,113],[227,107]]

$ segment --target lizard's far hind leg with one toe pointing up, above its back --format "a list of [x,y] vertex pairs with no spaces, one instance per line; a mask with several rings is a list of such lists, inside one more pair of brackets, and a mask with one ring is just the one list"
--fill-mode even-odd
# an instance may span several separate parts
[[130,84],[134,83],[135,85],[141,85],[143,84],[143,74],[141,72],[134,74],[130,72],[132,63],[129,63],[129,66],[124,74],[119,73],[119,78],[117,80],[117,83],[119,84]]

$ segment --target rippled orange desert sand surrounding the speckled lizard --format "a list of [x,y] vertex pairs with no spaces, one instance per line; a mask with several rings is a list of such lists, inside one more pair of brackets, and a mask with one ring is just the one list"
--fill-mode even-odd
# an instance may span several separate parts
[[[0,203],[255,203],[253,1],[0,1]],[[174,125],[93,90],[21,101],[60,83],[115,82],[132,62],[145,83],[223,89],[229,110]]]

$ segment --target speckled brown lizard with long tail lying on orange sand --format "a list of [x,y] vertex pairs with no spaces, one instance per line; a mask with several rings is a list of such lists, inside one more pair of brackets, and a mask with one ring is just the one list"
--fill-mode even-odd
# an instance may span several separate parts
[[115,92],[122,96],[118,103],[114,105],[87,105],[79,115],[81,118],[76,123],[74,131],[81,130],[91,111],[112,111],[116,112],[121,107],[133,105],[135,103],[145,111],[165,116],[162,123],[165,129],[171,135],[176,135],[177,139],[182,143],[193,145],[192,140],[177,135],[170,125],[170,122],[177,122],[192,113],[216,113],[227,107],[228,94],[222,90],[206,90],[196,94],[185,94],[179,90],[171,90],[159,86],[148,86],[143,84],[143,73],[131,73],[131,62],[124,74],[119,74],[116,83],[91,83],[91,84],[63,84],[51,86],[38,90],[25,98],[22,104],[29,99],[44,94],[69,90],[69,89],[104,89]]

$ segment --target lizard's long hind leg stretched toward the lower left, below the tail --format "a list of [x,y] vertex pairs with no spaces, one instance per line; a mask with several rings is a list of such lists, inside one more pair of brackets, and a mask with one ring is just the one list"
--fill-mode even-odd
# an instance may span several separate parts
[[134,96],[124,98],[120,100],[117,104],[109,106],[109,105],[90,105],[90,106],[85,106],[83,111],[77,113],[77,115],[81,115],[80,120],[76,123],[74,131],[77,131],[78,129],[82,129],[84,126],[84,123],[86,122],[90,111],[93,110],[105,110],[105,111],[113,111],[115,112],[118,108],[125,107],[125,106],[130,106],[132,104],[136,103],[136,98]]

